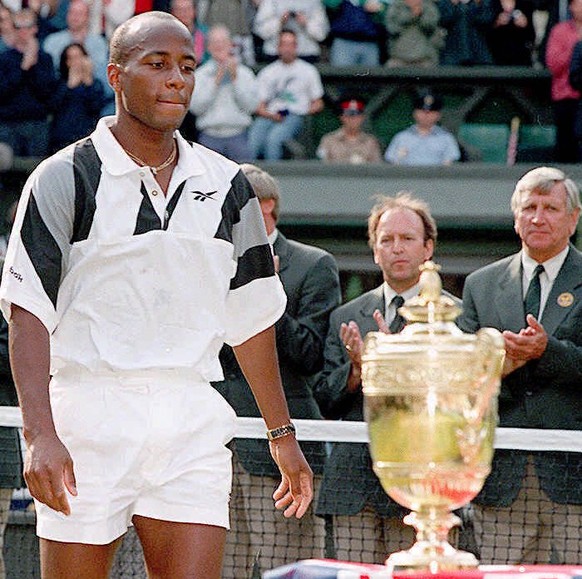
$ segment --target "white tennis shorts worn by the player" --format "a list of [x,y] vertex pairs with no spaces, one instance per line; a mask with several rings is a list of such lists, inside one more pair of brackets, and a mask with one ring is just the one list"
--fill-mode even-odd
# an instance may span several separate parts
[[78,496],[69,516],[35,501],[39,537],[107,544],[133,515],[228,528],[236,415],[199,376],[66,370],[50,399]]

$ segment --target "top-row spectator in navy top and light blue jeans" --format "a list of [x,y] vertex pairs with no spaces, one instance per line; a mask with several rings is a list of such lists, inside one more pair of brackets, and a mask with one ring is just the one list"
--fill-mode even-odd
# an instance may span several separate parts
[[386,42],[386,0],[323,0],[330,19],[330,63],[378,66]]

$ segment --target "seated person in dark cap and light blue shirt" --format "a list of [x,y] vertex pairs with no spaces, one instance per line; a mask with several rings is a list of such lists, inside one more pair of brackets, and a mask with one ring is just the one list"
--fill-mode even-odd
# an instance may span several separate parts
[[461,158],[455,137],[437,123],[441,118],[440,96],[425,92],[414,100],[414,125],[396,133],[384,158],[394,165],[450,165]]

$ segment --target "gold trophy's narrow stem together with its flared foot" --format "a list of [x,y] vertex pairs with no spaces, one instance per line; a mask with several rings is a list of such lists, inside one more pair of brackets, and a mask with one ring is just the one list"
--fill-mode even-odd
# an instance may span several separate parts
[[404,517],[404,522],[416,530],[416,543],[406,550],[393,553],[386,560],[393,571],[474,569],[479,565],[472,553],[458,551],[448,542],[449,531],[461,524],[461,519],[446,508],[428,507]]

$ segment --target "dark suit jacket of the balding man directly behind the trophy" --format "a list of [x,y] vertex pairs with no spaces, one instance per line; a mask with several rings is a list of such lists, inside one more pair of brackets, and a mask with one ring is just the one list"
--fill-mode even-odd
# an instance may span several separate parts
[[[451,294],[446,295],[459,303]],[[372,317],[376,309],[385,311],[383,286],[344,304],[331,315],[325,342],[324,367],[314,390],[325,418],[364,420],[362,390],[354,393],[347,391],[351,363],[339,330],[342,322],[354,320],[362,336],[378,331],[378,325]],[[367,444],[333,443],[324,469],[316,513],[322,516],[355,515],[365,506],[372,507],[382,517],[401,516],[407,512],[383,490],[372,469]]]

